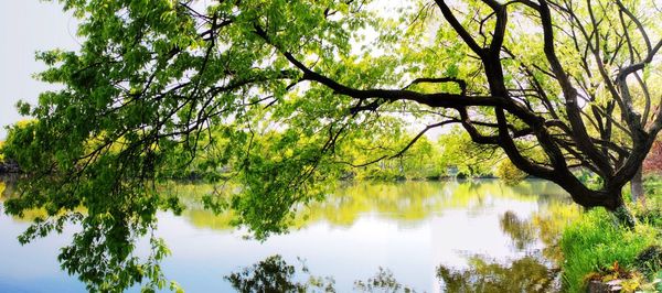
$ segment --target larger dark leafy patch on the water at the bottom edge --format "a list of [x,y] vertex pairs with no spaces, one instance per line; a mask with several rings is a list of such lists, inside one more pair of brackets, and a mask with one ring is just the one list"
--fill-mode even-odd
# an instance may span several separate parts
[[[308,272],[306,267],[301,270]],[[244,268],[241,272],[234,272],[225,276],[225,280],[238,292],[309,292],[313,289],[335,292],[333,279],[310,276],[308,282],[300,283],[293,281],[296,273],[293,265],[276,254],[250,268]]]

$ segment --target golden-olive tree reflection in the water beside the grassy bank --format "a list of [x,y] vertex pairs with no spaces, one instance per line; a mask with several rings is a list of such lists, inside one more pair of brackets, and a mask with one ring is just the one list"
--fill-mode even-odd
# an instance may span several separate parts
[[[574,208],[553,207],[534,214],[530,220],[521,219],[510,210],[504,213],[500,217],[501,230],[511,238],[513,249],[526,256],[504,263],[474,254],[469,257],[469,268],[463,270],[439,265],[437,278],[441,286],[445,292],[558,291],[559,270],[553,268],[554,261],[558,260],[556,241],[575,211]],[[536,239],[545,245],[542,250],[532,249]]]

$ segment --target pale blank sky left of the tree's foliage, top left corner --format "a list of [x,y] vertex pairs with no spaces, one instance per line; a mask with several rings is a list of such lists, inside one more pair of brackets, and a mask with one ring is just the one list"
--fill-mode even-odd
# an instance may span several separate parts
[[76,20],[62,6],[40,0],[0,0],[0,140],[6,126],[21,119],[14,105],[19,100],[34,104],[39,93],[54,89],[32,78],[45,69],[34,61],[36,51],[75,50]]

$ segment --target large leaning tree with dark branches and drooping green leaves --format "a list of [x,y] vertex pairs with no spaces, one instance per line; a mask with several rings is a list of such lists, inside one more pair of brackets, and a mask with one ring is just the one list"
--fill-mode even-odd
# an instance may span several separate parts
[[[577,204],[618,210],[662,128],[655,1],[60,2],[82,46],[38,54],[39,77],[63,88],[19,105],[36,121],[4,146],[28,177],[6,207],[45,208],[23,241],[79,221],[61,260],[102,289],[159,276],[131,241],[156,210],[180,209],[151,184],[192,162],[241,186],[205,205],[265,237],[323,195],[320,182],[451,123]],[[348,155],[416,126],[412,143]],[[147,263],[164,253],[153,245]]]

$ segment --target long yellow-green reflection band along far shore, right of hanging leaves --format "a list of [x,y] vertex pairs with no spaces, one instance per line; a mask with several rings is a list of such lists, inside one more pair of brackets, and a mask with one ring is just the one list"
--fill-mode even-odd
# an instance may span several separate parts
[[305,225],[327,220],[339,226],[350,226],[361,214],[376,213],[380,217],[398,223],[416,224],[433,213],[446,209],[482,209],[494,199],[535,200],[542,191],[554,195],[554,200],[559,200],[565,195],[558,186],[542,181],[532,181],[528,186],[516,187],[504,186],[492,180],[360,183],[337,191],[324,202],[309,205],[305,210],[307,220],[299,223]]

